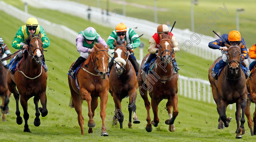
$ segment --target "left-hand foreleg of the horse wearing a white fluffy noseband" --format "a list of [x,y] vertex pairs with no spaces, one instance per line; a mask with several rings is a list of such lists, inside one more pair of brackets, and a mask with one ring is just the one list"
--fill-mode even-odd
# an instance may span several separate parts
[[[120,103],[121,99],[119,96],[117,96],[116,92],[113,92],[113,100],[116,105],[115,115],[116,115],[116,117],[118,117],[120,129],[123,129],[123,112],[121,111],[121,103]],[[129,108],[128,108],[128,110],[129,110]]]

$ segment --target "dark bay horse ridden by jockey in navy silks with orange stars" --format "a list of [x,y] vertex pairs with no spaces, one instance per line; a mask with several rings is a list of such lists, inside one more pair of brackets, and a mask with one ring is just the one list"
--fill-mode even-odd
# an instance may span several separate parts
[[[217,104],[217,111],[219,113],[218,129],[224,129],[229,126],[231,117],[227,118],[226,108],[229,104],[236,103],[236,138],[242,138],[245,133],[244,130],[244,113],[247,100],[247,89],[245,84],[245,75],[242,70],[242,54],[241,44],[238,46],[230,46],[227,54],[227,63],[221,70],[218,80],[212,77],[212,68],[215,66],[222,56],[216,59],[209,68],[208,78],[212,87],[212,95]],[[242,118],[241,118],[242,109]],[[241,120],[240,120],[241,119]],[[239,120],[241,125],[239,126]],[[224,125],[223,125],[224,123]]]

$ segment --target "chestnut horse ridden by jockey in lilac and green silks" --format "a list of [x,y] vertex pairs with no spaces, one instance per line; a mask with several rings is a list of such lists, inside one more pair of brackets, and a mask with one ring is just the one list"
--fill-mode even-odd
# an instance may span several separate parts
[[[94,111],[98,106],[98,97],[101,99],[100,116],[102,119],[101,135],[108,136],[105,127],[105,109],[108,101],[108,49],[109,46],[105,46],[101,43],[94,45],[95,52],[91,53],[87,60],[87,69],[84,69],[85,63],[82,64],[82,69],[77,72],[77,83],[76,80],[71,76],[68,76],[69,89],[71,93],[71,99],[69,106],[74,107],[78,115],[78,123],[81,128],[81,134],[84,135],[84,117],[82,115],[82,102],[87,101],[88,104],[88,133],[92,133],[92,128],[95,127],[93,120]],[[72,66],[72,65],[71,65]],[[70,67],[71,67],[70,66]]]

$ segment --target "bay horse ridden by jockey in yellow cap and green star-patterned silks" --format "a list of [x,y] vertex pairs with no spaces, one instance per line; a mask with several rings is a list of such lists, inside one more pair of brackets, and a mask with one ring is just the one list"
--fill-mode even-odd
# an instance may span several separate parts
[[[34,35],[30,34],[26,39],[27,54],[24,55],[20,66],[15,74],[7,73],[7,84],[9,90],[13,93],[16,101],[16,122],[22,124],[23,120],[20,116],[19,99],[23,108],[23,118],[25,120],[24,132],[30,132],[28,128],[27,120],[29,114],[27,112],[27,101],[34,96],[34,104],[36,109],[36,118],[34,119],[34,125],[39,126],[41,124],[39,116],[40,112],[42,117],[48,114],[46,108],[46,83],[47,73],[42,69],[42,57],[43,57],[43,43],[41,41],[41,33]],[[11,57],[11,59],[13,56]],[[16,90],[16,87],[18,91]],[[38,101],[41,101],[42,108],[38,108]],[[39,112],[40,111],[40,112]]]

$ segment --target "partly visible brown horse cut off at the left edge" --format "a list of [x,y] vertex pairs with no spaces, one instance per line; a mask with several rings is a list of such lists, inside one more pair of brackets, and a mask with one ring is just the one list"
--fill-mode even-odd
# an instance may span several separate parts
[[3,100],[2,105],[0,106],[1,112],[3,114],[2,121],[6,121],[5,114],[9,113],[8,104],[9,104],[9,97],[11,95],[11,92],[7,87],[7,80],[6,80],[7,71],[8,70],[2,64],[2,60],[0,60],[0,96]]

